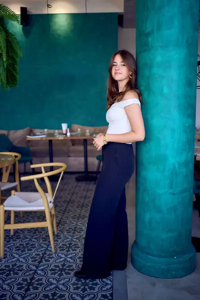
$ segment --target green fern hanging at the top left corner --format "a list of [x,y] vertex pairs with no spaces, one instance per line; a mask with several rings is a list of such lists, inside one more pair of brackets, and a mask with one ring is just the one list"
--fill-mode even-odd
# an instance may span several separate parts
[[0,85],[3,90],[18,85],[18,61],[22,57],[19,43],[5,26],[4,20],[20,25],[19,16],[9,7],[0,4]]

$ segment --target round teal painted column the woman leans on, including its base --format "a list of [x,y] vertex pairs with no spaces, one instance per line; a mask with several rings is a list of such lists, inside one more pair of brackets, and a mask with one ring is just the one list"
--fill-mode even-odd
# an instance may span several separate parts
[[198,0],[136,0],[137,83],[146,136],[136,145],[133,267],[159,278],[195,269],[191,244]]

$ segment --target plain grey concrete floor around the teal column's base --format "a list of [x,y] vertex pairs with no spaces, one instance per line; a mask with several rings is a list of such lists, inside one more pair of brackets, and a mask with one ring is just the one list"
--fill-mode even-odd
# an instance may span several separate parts
[[[137,272],[130,263],[130,247],[135,238],[135,177],[126,185],[129,253],[126,269],[128,300],[200,300],[200,253],[196,253],[196,269],[178,279],[158,279]],[[200,218],[193,210],[192,236],[200,237]],[[121,299],[123,300],[123,299]]]

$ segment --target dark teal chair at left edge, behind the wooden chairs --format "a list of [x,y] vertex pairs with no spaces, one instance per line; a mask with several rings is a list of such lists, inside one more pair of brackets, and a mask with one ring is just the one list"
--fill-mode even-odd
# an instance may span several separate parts
[[[21,154],[21,158],[18,160],[18,163],[24,164],[25,172],[25,163],[29,162],[32,164],[32,157],[30,154],[30,149],[28,147],[15,146],[7,135],[0,135],[0,152],[16,152]],[[34,169],[32,169],[34,173]]]

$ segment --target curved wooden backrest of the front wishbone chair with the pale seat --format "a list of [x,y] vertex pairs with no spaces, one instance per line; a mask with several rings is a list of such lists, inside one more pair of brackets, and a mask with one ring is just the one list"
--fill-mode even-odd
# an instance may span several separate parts
[[[60,167],[53,170],[53,171],[45,172],[44,168],[49,167],[49,166],[60,166]],[[52,202],[53,202],[56,191],[57,191],[57,188],[58,188],[60,180],[61,180],[61,177],[63,175],[64,170],[66,169],[66,164],[62,163],[62,162],[48,162],[48,163],[31,164],[30,167],[31,168],[41,167],[41,173],[34,174],[34,175],[29,175],[29,176],[23,176],[23,177],[21,177],[21,181],[32,180],[32,179],[34,180],[34,184],[36,186],[36,189],[40,193],[40,196],[41,196],[41,198],[43,199],[43,202],[44,202],[44,207],[46,209],[47,208],[47,198],[46,198],[46,195],[45,195],[43,189],[39,185],[37,179],[38,178],[44,178],[44,181],[46,183],[46,188],[47,188],[47,191],[48,191],[48,195],[52,196]],[[60,173],[60,176],[59,176],[54,194],[52,194],[52,188],[51,188],[51,184],[50,184],[50,181],[49,181],[48,177],[52,176],[52,175],[55,175],[55,174],[59,174],[59,173]]]

